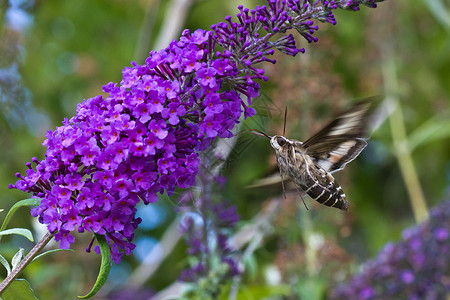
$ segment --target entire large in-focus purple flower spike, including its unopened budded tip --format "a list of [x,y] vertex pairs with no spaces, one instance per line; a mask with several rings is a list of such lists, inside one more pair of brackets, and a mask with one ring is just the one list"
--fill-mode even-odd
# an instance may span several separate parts
[[136,204],[191,187],[198,152],[216,137],[231,137],[242,112],[255,114],[256,81],[267,80],[255,65],[274,63],[267,58],[274,48],[304,51],[290,34],[271,38],[295,28],[315,42],[312,19],[335,24],[332,9],[379,1],[269,0],[251,11],[240,6],[238,22],[227,17],[211,31],[185,30],[179,41],[150,52],[145,64],[125,68],[120,85],[105,85],[106,98],[80,103],[74,117],[47,133],[45,158],[33,158],[35,168],[27,163],[26,176],[17,174],[10,187],[42,199],[32,215],[56,233],[61,248],[74,242],[71,231],[92,231],[107,237],[120,261],[122,250],[134,248]]

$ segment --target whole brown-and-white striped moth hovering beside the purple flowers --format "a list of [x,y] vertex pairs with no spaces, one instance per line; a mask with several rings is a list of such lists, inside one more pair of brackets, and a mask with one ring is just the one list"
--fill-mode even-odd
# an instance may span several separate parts
[[252,131],[270,139],[282,184],[283,175],[287,175],[319,203],[348,210],[346,196],[331,173],[342,170],[367,146],[373,104],[370,100],[357,103],[305,142],[288,139],[284,132],[269,136],[256,129]]

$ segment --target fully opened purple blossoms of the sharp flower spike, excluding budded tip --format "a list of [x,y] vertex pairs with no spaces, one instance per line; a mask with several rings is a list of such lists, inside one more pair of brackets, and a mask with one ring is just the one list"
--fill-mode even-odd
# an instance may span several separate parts
[[[151,52],[145,65],[125,68],[120,86],[104,86],[109,96],[78,105],[76,115],[47,133],[46,157],[15,187],[42,198],[33,216],[57,231],[61,248],[70,231],[93,231],[128,254],[136,204],[155,202],[157,193],[195,182],[199,158],[216,136],[228,137],[241,114],[239,95],[219,91],[220,76],[236,76],[226,59],[209,59],[211,33],[183,33],[179,42]],[[193,86],[198,86],[192,91]],[[186,91],[188,97],[182,97]]]

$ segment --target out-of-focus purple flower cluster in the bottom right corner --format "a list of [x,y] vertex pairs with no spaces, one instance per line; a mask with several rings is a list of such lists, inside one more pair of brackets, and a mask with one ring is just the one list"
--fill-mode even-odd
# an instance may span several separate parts
[[403,232],[331,299],[446,299],[450,293],[450,200],[430,211],[430,219]]

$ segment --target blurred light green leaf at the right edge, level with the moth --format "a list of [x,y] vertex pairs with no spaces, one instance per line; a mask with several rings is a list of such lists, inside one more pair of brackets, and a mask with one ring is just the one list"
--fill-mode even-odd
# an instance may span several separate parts
[[450,118],[448,114],[435,116],[411,132],[408,136],[409,150],[412,152],[423,144],[448,137],[450,137]]

